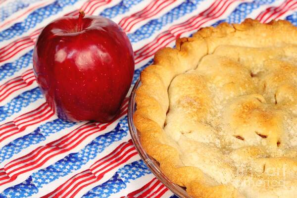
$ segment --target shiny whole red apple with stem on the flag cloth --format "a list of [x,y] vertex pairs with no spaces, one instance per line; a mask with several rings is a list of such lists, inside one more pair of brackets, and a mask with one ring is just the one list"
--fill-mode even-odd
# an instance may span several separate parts
[[84,15],[58,18],[43,29],[33,68],[60,118],[107,122],[118,113],[130,88],[133,50],[116,23]]

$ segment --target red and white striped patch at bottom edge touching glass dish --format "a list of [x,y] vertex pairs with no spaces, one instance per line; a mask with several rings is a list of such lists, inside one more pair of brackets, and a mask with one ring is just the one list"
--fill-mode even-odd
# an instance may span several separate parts
[[142,188],[121,198],[160,198],[169,190],[157,178],[153,178]]

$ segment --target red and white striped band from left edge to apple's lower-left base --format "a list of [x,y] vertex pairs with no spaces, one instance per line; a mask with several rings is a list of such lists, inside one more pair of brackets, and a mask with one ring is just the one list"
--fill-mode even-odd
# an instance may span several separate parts
[[18,138],[19,133],[27,127],[48,120],[53,115],[54,110],[45,102],[38,108],[16,117],[13,121],[0,125],[0,147]]

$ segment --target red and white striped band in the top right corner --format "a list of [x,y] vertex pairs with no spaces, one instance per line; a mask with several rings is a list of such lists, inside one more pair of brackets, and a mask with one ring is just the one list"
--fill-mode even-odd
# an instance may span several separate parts
[[290,11],[297,10],[297,0],[285,0],[278,7],[269,7],[265,11],[261,12],[256,19],[262,23],[267,23],[271,20],[276,20],[283,17],[286,13]]

